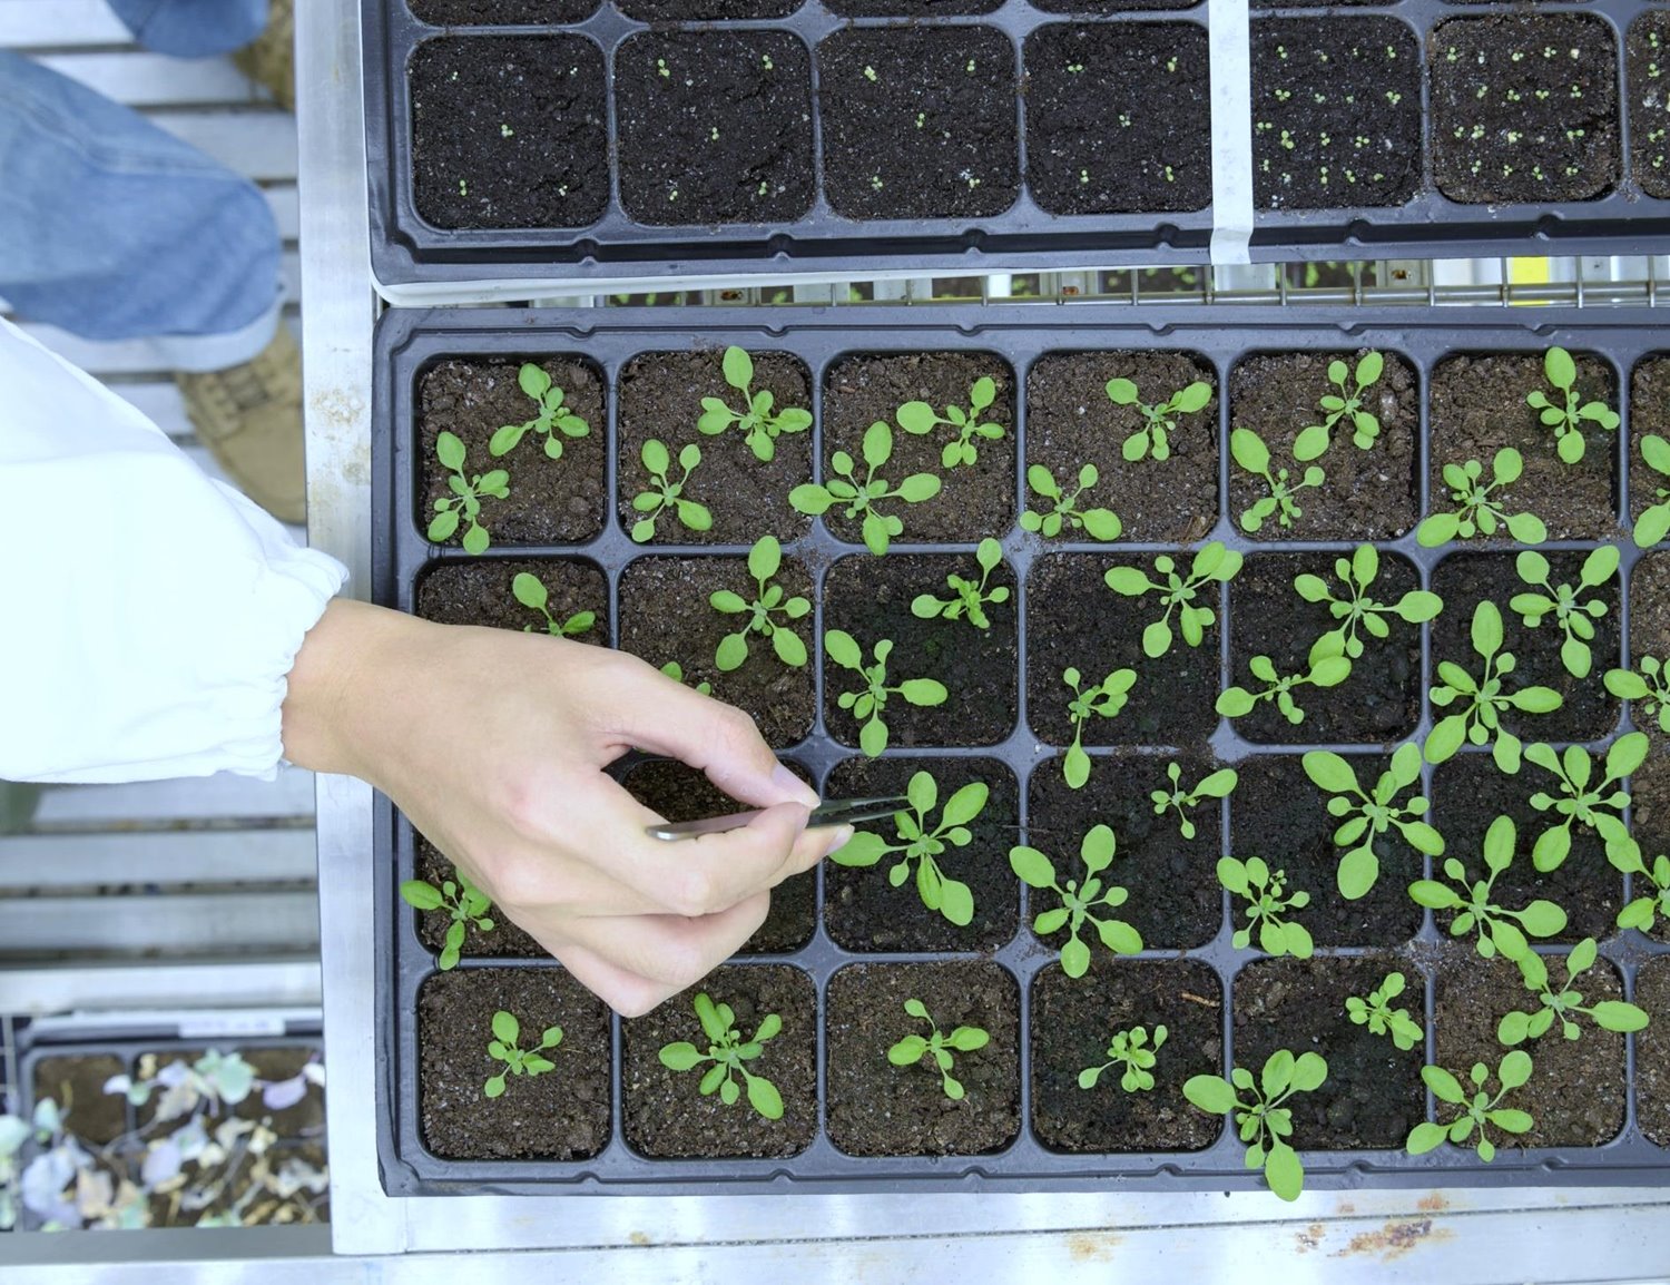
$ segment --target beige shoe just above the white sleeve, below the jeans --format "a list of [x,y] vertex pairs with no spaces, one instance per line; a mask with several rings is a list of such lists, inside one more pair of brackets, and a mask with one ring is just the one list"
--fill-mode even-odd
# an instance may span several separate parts
[[254,361],[174,383],[199,441],[237,488],[279,521],[306,520],[302,354],[284,321]]

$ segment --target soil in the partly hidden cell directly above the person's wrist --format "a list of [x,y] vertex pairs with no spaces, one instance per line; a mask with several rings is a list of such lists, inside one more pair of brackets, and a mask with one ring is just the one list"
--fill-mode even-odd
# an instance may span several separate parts
[[491,625],[523,630],[533,625],[546,632],[546,620],[531,607],[523,607],[511,585],[518,575],[538,576],[546,592],[546,612],[563,625],[579,612],[596,620],[573,642],[610,645],[610,582],[603,570],[583,558],[514,558],[431,563],[418,575],[416,608],[424,620],[443,625]]

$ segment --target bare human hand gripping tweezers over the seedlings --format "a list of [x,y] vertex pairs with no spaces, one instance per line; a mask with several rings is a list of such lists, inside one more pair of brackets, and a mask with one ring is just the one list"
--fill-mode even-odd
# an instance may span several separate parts
[[[284,702],[284,750],[371,782],[584,986],[638,1016],[700,981],[765,919],[770,889],[840,847],[817,795],[740,710],[621,652],[434,625],[336,600]],[[763,812],[676,844],[603,767],[680,759]]]

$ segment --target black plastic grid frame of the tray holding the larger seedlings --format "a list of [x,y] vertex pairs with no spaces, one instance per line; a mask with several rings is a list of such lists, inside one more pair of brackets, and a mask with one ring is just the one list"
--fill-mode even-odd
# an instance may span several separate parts
[[[1025,386],[1027,371],[1044,353],[1091,353],[1091,351],[1186,351],[1204,359],[1214,371],[1219,389],[1217,433],[1221,446],[1219,473],[1219,521],[1214,530],[1201,538],[1222,540],[1231,548],[1247,553],[1254,551],[1301,551],[1329,550],[1349,551],[1356,541],[1254,541],[1249,540],[1232,521],[1227,501],[1227,483],[1231,473],[1227,443],[1229,409],[1226,389],[1229,373],[1237,359],[1251,353],[1351,353],[1363,348],[1378,348],[1383,353],[1401,354],[1418,373],[1421,389],[1421,443],[1418,449],[1420,498],[1426,503],[1426,388],[1433,364],[1445,354],[1490,354],[1490,353],[1541,353],[1550,344],[1563,344],[1573,353],[1598,356],[1612,368],[1617,388],[1622,396],[1625,428],[1617,436],[1617,456],[1613,465],[1618,476],[1617,496],[1627,496],[1627,460],[1625,449],[1630,441],[1630,371],[1637,361],[1652,353],[1662,338],[1658,317],[1648,312],[1592,312],[1553,311],[1553,309],[1520,309],[1520,311],[1470,311],[1466,317],[1443,316],[1430,311],[1354,311],[1351,314],[1328,314],[1316,319],[1298,319],[1289,311],[1261,307],[1189,307],[1189,309],[1132,309],[1106,306],[1075,306],[1067,309],[1039,309],[1027,306],[957,309],[957,307],[917,307],[908,312],[890,309],[842,307],[827,309],[772,309],[736,311],[711,309],[690,319],[670,319],[666,312],[656,311],[610,311],[606,314],[574,314],[544,311],[473,311],[473,312],[407,312],[394,311],[384,316],[376,344],[376,391],[374,391],[374,597],[377,602],[401,610],[414,607],[414,582],[428,566],[451,565],[466,555],[458,548],[436,548],[426,541],[419,530],[424,518],[414,513],[419,486],[419,460],[414,456],[416,433],[416,386],[421,373],[443,358],[483,358],[489,361],[516,363],[541,359],[546,356],[569,354],[583,356],[595,363],[601,373],[608,391],[606,443],[608,451],[608,491],[615,495],[615,449],[616,441],[616,379],[623,364],[640,353],[651,351],[716,351],[726,344],[740,344],[753,353],[792,353],[798,356],[812,373],[813,386],[813,460],[823,458],[822,449],[822,398],[823,373],[828,364],[843,354],[888,354],[888,353],[984,353],[1007,361],[1017,379],[1015,421],[1014,429],[1019,438],[1017,449],[1017,495],[1025,495],[1024,461],[1027,460],[1027,401],[1020,396]],[[601,426],[601,424],[600,424]],[[693,428],[693,418],[691,418]],[[691,433],[683,433],[676,426],[666,428],[670,441],[683,441]],[[1625,500],[1618,498],[1618,513],[1623,516]],[[499,546],[494,545],[486,558],[526,558],[526,556],[574,556],[593,561],[610,582],[610,618],[618,632],[618,585],[623,568],[640,556],[656,555],[741,555],[746,546],[686,546],[635,545],[628,540],[620,520],[613,515],[601,536],[581,546]],[[1015,515],[1019,516],[1019,515]],[[1027,571],[1044,553],[1079,551],[1102,555],[1131,555],[1174,550],[1162,545],[1132,543],[1059,543],[1042,541],[1040,536],[1025,533],[1019,525],[1009,530],[994,531],[1000,536],[1004,555],[1017,576],[1015,603],[1019,620],[1019,653],[1020,673],[1025,675],[1027,627],[1029,620],[1037,628],[1035,618],[1029,618],[1027,608]],[[1613,538],[1622,548],[1623,575],[1640,560],[1640,551],[1618,526]],[[1561,543],[1548,548],[1586,548],[1583,543]],[[897,553],[927,551],[929,548],[955,548],[967,553],[972,543],[957,546],[927,546],[895,543]],[[1414,543],[1413,530],[1396,540],[1379,545],[1384,551],[1396,551],[1414,563],[1420,583],[1426,587],[1433,568],[1450,550],[1423,550]],[[1468,546],[1465,546],[1468,548]],[[1495,543],[1493,548],[1505,548]],[[818,605],[813,617],[812,635],[822,638],[823,603],[822,583],[833,560],[843,555],[862,553],[862,545],[840,543],[830,536],[822,523],[812,525],[812,533],[795,543],[785,545],[785,553],[798,556],[810,570],[818,585]],[[1232,587],[1231,587],[1232,588]],[[1628,638],[1628,603],[1622,603],[1623,617],[1620,628]],[[1229,622],[1222,633],[1221,663],[1227,670],[1231,658],[1229,637],[1234,625],[1227,615],[1227,598],[1219,603],[1219,620]],[[1421,692],[1431,683],[1433,655],[1430,627],[1421,627]],[[613,640],[613,635],[611,635]],[[1625,662],[1628,663],[1627,653]],[[783,755],[808,767],[818,782],[832,765],[857,754],[855,749],[837,745],[827,734],[823,724],[822,700],[822,648],[813,655],[813,673],[818,683],[818,719],[812,735],[787,750]],[[1222,682],[1239,682],[1222,677]],[[925,757],[935,760],[955,760],[959,757],[995,757],[1014,770],[1017,780],[1025,782],[1034,770],[1050,774],[1060,772],[1059,747],[1042,745],[1029,730],[1025,682],[1019,685],[1019,709],[1015,730],[999,745],[980,749],[888,749],[887,757]],[[1425,737],[1431,729],[1433,717],[1428,703],[1421,702],[1420,725],[1414,737]],[[1627,729],[1627,717],[1620,730]],[[1224,762],[1251,760],[1264,754],[1296,755],[1314,745],[1263,745],[1251,744],[1227,720],[1217,724],[1211,735],[1211,750]],[[1159,749],[1159,747],[1156,747]],[[1328,749],[1346,749],[1333,745]],[[1356,745],[1354,749],[1383,750],[1383,745]],[[1662,754],[1662,750],[1655,750]],[[1106,760],[1104,760],[1106,762]],[[1106,765],[1101,769],[1106,770]],[[1423,792],[1431,792],[1433,769],[1423,769]],[[1027,790],[1020,790],[1020,825],[1022,830],[1047,820],[1027,815]],[[1232,802],[1232,800],[1229,800]],[[1229,842],[1227,807],[1222,814],[1222,839]],[[1440,819],[1440,825],[1441,825]],[[1523,837],[1521,837],[1523,841]],[[1022,839],[1025,842],[1025,839]],[[1062,851],[1072,849],[1077,839],[1057,841]],[[1528,842],[1528,841],[1523,841]],[[1042,844],[1047,847],[1047,844]],[[1227,849],[1226,849],[1227,854]],[[1070,856],[1070,852],[1069,852]],[[1216,854],[1214,854],[1216,856]],[[1460,852],[1470,861],[1470,869],[1476,869],[1476,852]],[[1526,857],[1521,854],[1520,861]],[[817,931],[810,944],[788,956],[746,957],[740,968],[760,964],[790,964],[803,969],[815,983],[818,994],[818,1018],[823,1016],[823,1001],[830,976],[853,962],[900,962],[913,959],[992,959],[1007,969],[1019,984],[1019,1029],[1020,1029],[1020,1118],[1022,1128],[1017,1141],[994,1155],[967,1156],[932,1156],[932,1158],[857,1158],[837,1150],[822,1130],[823,1101],[822,1084],[825,1074],[825,1034],[818,1038],[818,1084],[820,1130],[812,1145],[800,1155],[787,1160],[651,1160],[636,1153],[621,1133],[621,1021],[611,1019],[611,1120],[613,1133],[606,1148],[593,1160],[579,1163],[546,1163],[546,1161],[449,1161],[431,1155],[421,1138],[418,1113],[418,1024],[416,1006],[419,988],[426,979],[436,976],[434,956],[423,946],[416,932],[416,916],[397,901],[396,889],[402,879],[414,872],[414,836],[411,825],[396,814],[394,807],[379,797],[376,810],[376,869],[381,871],[376,881],[374,931],[377,941],[377,1145],[381,1156],[382,1181],[391,1195],[463,1195],[481,1190],[509,1193],[625,1193],[625,1191],[741,1191],[752,1188],[768,1190],[1072,1190],[1094,1188],[1106,1183],[1121,1183],[1149,1190],[1226,1190],[1254,1188],[1261,1185],[1256,1171],[1249,1173],[1242,1166],[1242,1146],[1234,1140],[1232,1131],[1224,1131],[1214,1145],[1202,1151],[1191,1153],[1149,1153],[1149,1155],[1064,1155],[1047,1150],[1037,1140],[1032,1128],[1030,1081],[1030,1006],[1034,978],[1054,966],[1055,952],[1042,946],[1027,927],[1032,911],[1025,901],[1025,889],[1020,904],[1020,927],[1014,939],[989,954],[964,956],[929,956],[929,954],[853,954],[838,947],[823,926],[823,896],[830,884],[828,867],[820,872]],[[1431,864],[1431,862],[1428,862]],[[880,877],[880,867],[873,872]],[[1202,877],[1211,879],[1209,864],[1202,867]],[[1383,874],[1383,877],[1386,877]],[[1622,876],[1610,872],[1598,879],[1617,879]],[[908,896],[902,889],[900,896]],[[1331,887],[1326,891],[1331,894]],[[1234,1029],[1227,1003],[1234,994],[1232,988],[1237,973],[1251,961],[1258,959],[1256,951],[1232,949],[1232,907],[1224,904],[1224,917],[1216,936],[1202,947],[1191,951],[1146,951],[1144,959],[1177,959],[1186,957],[1207,964],[1219,978],[1222,996],[1222,1039],[1224,1066],[1227,1073],[1234,1054]],[[1416,934],[1408,952],[1404,969],[1411,978],[1409,999],[1425,1004],[1428,1039],[1431,1034],[1431,1013],[1435,1004],[1435,959],[1440,941],[1448,941],[1433,924],[1428,912],[1423,927]],[[1667,949],[1637,932],[1610,932],[1602,942],[1603,959],[1612,961],[1620,969],[1628,993],[1633,994],[1635,974],[1638,968],[1652,957],[1662,956]],[[1358,947],[1318,949],[1318,957],[1338,956],[1356,957],[1369,954]],[[471,959],[466,956],[461,968],[471,969],[483,964],[493,968],[554,968],[549,961],[504,959],[494,957]],[[1117,964],[1116,964],[1117,968]],[[1425,979],[1425,984],[1423,984]],[[1550,1036],[1556,1038],[1556,1036]],[[1630,1083],[1628,1108],[1620,1135],[1593,1148],[1555,1148],[1515,1151],[1503,1148],[1493,1165],[1481,1165],[1471,1151],[1461,1148],[1440,1148],[1438,1151],[1411,1158],[1398,1150],[1358,1150],[1358,1151],[1308,1151],[1304,1155],[1306,1180],[1316,1186],[1413,1186],[1413,1185],[1506,1185],[1506,1183],[1561,1183],[1561,1185],[1627,1185],[1627,1183],[1660,1183],[1670,1173],[1670,1151],[1655,1146],[1642,1133],[1637,1121],[1635,1098],[1635,1044],[1630,1038],[1627,1053],[1627,1073]],[[1500,1054],[1498,1054],[1500,1056]],[[1435,1059],[1431,1044],[1428,1061]],[[514,1089],[514,1086],[513,1086]],[[693,1093],[693,1084],[691,1084]],[[456,1108],[453,1108],[456,1110]],[[743,1108],[738,1108],[743,1110]]]

